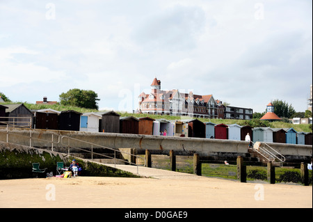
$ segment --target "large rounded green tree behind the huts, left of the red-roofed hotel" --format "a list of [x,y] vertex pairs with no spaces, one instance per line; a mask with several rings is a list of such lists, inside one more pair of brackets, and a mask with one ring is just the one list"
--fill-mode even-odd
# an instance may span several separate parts
[[98,95],[93,90],[80,90],[73,88],[67,93],[59,95],[61,105],[63,106],[78,106],[86,109],[99,109],[97,105]]

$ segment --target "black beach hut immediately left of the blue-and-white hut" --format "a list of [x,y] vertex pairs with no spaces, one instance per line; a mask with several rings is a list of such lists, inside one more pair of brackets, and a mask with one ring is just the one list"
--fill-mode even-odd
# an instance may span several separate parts
[[70,131],[79,131],[81,114],[74,110],[61,111],[58,116],[58,129],[61,130],[70,130]]

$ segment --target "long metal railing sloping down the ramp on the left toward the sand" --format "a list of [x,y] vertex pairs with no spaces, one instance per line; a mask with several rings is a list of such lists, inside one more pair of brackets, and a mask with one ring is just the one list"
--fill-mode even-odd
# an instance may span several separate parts
[[[90,142],[87,142],[87,141],[82,141],[82,140],[79,140],[77,138],[72,138],[72,137],[69,137],[69,136],[61,136],[60,134],[50,133],[51,134],[51,141],[50,141],[50,140],[47,140],[47,139],[33,137],[33,131],[35,131],[34,129],[29,129],[29,135],[28,136],[9,132],[8,129],[9,129],[9,127],[7,125],[6,126],[6,132],[1,132],[0,131],[0,133],[6,134],[6,143],[9,143],[9,135],[14,135],[14,136],[19,136],[19,137],[29,138],[29,147],[31,147],[31,148],[33,148],[33,140],[43,141],[45,143],[51,143],[51,151],[54,151],[54,145],[61,144],[61,145],[65,145],[67,147],[67,155],[68,156],[70,156],[70,148],[74,148],[74,149],[77,149],[77,150],[82,150],[84,152],[90,152],[92,161],[93,161],[93,155],[94,154],[102,156],[102,157],[106,157],[106,158],[109,158],[109,159],[114,159],[114,167],[116,166],[116,161],[117,160],[118,161],[122,161],[122,162],[125,162],[127,164],[131,164],[131,165],[137,166],[137,174],[138,174],[138,165],[139,164],[133,163],[132,161],[126,161],[124,159],[118,159],[118,158],[116,158],[117,157],[116,154],[117,153],[119,153],[119,154],[127,154],[127,155],[129,155],[129,157],[134,157],[135,159],[143,159],[144,163],[145,163],[144,166],[147,166],[144,157],[140,157],[140,156],[138,156],[136,154],[131,154],[129,152],[123,152],[123,151],[116,150],[116,149],[113,149],[113,148],[108,148],[108,147],[105,147],[103,145],[90,143]],[[57,138],[57,141],[55,141],[55,138]],[[65,141],[64,141],[65,138],[67,138],[67,143],[65,143]],[[73,145],[70,145],[70,141],[77,141],[79,143],[88,144],[88,145],[90,145],[91,151],[83,149],[83,148],[74,147]],[[14,141],[13,143],[18,144],[17,141]],[[19,143],[19,145],[24,145],[24,144]],[[94,152],[93,148],[95,148],[95,147],[97,147],[97,148],[104,148],[104,149],[108,149],[108,150],[113,151],[114,157],[110,157],[110,156],[105,155],[105,154]]]

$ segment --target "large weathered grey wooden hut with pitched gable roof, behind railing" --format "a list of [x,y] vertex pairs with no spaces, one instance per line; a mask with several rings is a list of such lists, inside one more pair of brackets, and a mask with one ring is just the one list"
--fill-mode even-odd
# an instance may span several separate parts
[[6,104],[6,107],[6,117],[12,117],[7,119],[10,125],[33,128],[33,113],[24,104]]

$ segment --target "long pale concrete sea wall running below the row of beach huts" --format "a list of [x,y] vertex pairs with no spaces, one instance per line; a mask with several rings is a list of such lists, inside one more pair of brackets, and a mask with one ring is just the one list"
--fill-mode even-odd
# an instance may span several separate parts
[[[31,135],[31,141],[29,136]],[[54,135],[54,136],[52,136]],[[8,141],[19,144],[31,145],[38,148],[51,148],[54,150],[67,149],[67,144],[76,148],[90,148],[91,145],[81,141],[68,140],[67,137],[76,138],[81,141],[95,143],[108,148],[133,148],[138,154],[143,154],[145,150],[152,152],[167,152],[174,150],[182,154],[197,152],[200,156],[208,158],[236,158],[237,156],[248,157],[248,143],[246,141],[220,140],[210,138],[182,138],[173,136],[150,136],[136,134],[111,134],[111,133],[91,133],[91,132],[70,132],[58,130],[40,129],[9,129]],[[6,129],[0,129],[0,141],[6,141]],[[45,141],[42,141],[45,140]],[[52,143],[53,141],[53,143]],[[283,154],[287,161],[307,161],[312,156],[311,145],[296,145],[285,143],[267,143],[273,149]],[[93,145],[94,152],[101,150]]]

